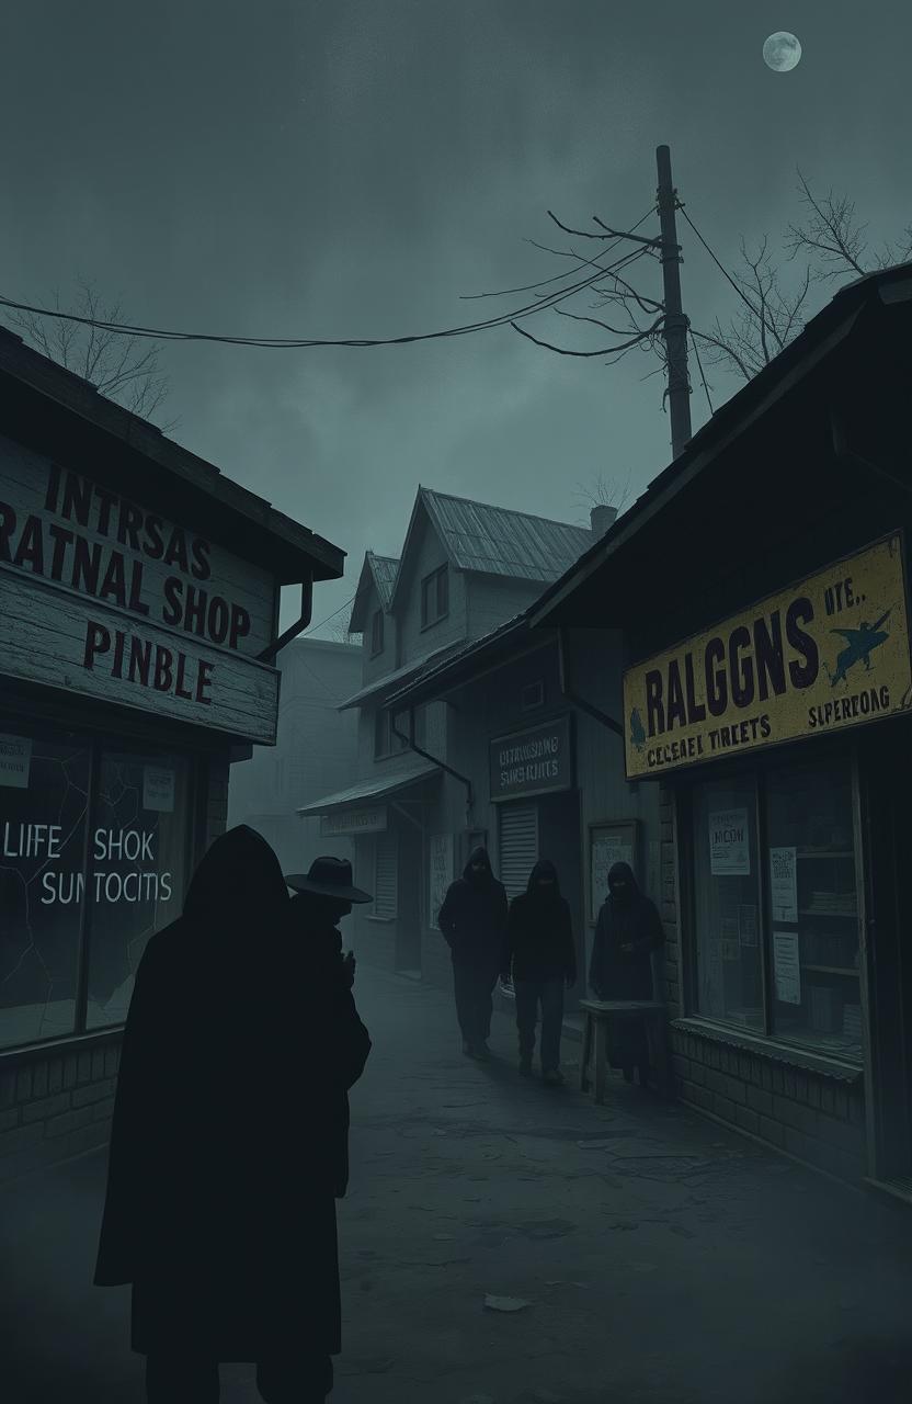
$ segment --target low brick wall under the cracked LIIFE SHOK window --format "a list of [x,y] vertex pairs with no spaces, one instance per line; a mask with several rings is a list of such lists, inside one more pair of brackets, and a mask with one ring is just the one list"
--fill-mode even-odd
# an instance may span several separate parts
[[0,1182],[108,1143],[119,1060],[108,1042],[0,1074]]

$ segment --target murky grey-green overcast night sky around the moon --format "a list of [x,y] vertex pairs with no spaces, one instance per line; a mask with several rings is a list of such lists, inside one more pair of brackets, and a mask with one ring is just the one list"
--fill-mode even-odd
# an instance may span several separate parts
[[[774,29],[803,44],[791,73],[763,65]],[[177,330],[474,322],[525,299],[460,295],[560,270],[525,241],[557,243],[549,208],[638,220],[664,142],[727,265],[741,234],[777,240],[800,218],[797,166],[849,194],[876,240],[912,220],[912,13],[897,0],[29,0],[3,35],[0,292],[42,305],[55,288],[72,305],[84,277],[129,320]],[[709,327],[734,295],[679,237],[685,310]],[[661,295],[652,260],[634,281]],[[530,330],[599,344],[556,314]],[[174,438],[348,552],[317,621],[354,592],[366,548],[398,555],[420,482],[584,521],[599,475],[637,496],[671,456],[638,350],[608,368],[505,329],[377,350],[166,345],[163,362]],[[716,404],[739,386],[710,380]]]

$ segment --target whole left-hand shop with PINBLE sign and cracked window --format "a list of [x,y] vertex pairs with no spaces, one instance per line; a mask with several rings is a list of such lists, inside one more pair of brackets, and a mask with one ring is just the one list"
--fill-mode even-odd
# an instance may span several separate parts
[[279,585],[341,573],[58,378],[69,400],[0,341],[0,1177],[107,1137],[146,942],[224,827],[230,761],[275,743]]

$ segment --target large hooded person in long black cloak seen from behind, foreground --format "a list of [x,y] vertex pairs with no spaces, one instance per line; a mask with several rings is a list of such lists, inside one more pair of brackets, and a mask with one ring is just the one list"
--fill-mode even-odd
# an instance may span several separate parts
[[[335,890],[340,913],[369,900]],[[351,963],[328,945],[267,841],[240,826],[143,952],[94,1282],[132,1283],[150,1404],[216,1404],[219,1362],[233,1360],[255,1362],[267,1404],[316,1404],[333,1387],[344,1099],[370,1039]]]

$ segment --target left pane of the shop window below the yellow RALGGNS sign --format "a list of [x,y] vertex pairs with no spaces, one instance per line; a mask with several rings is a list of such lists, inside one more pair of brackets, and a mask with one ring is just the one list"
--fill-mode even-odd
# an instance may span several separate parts
[[756,788],[710,782],[693,795],[697,1012],[763,1032]]

